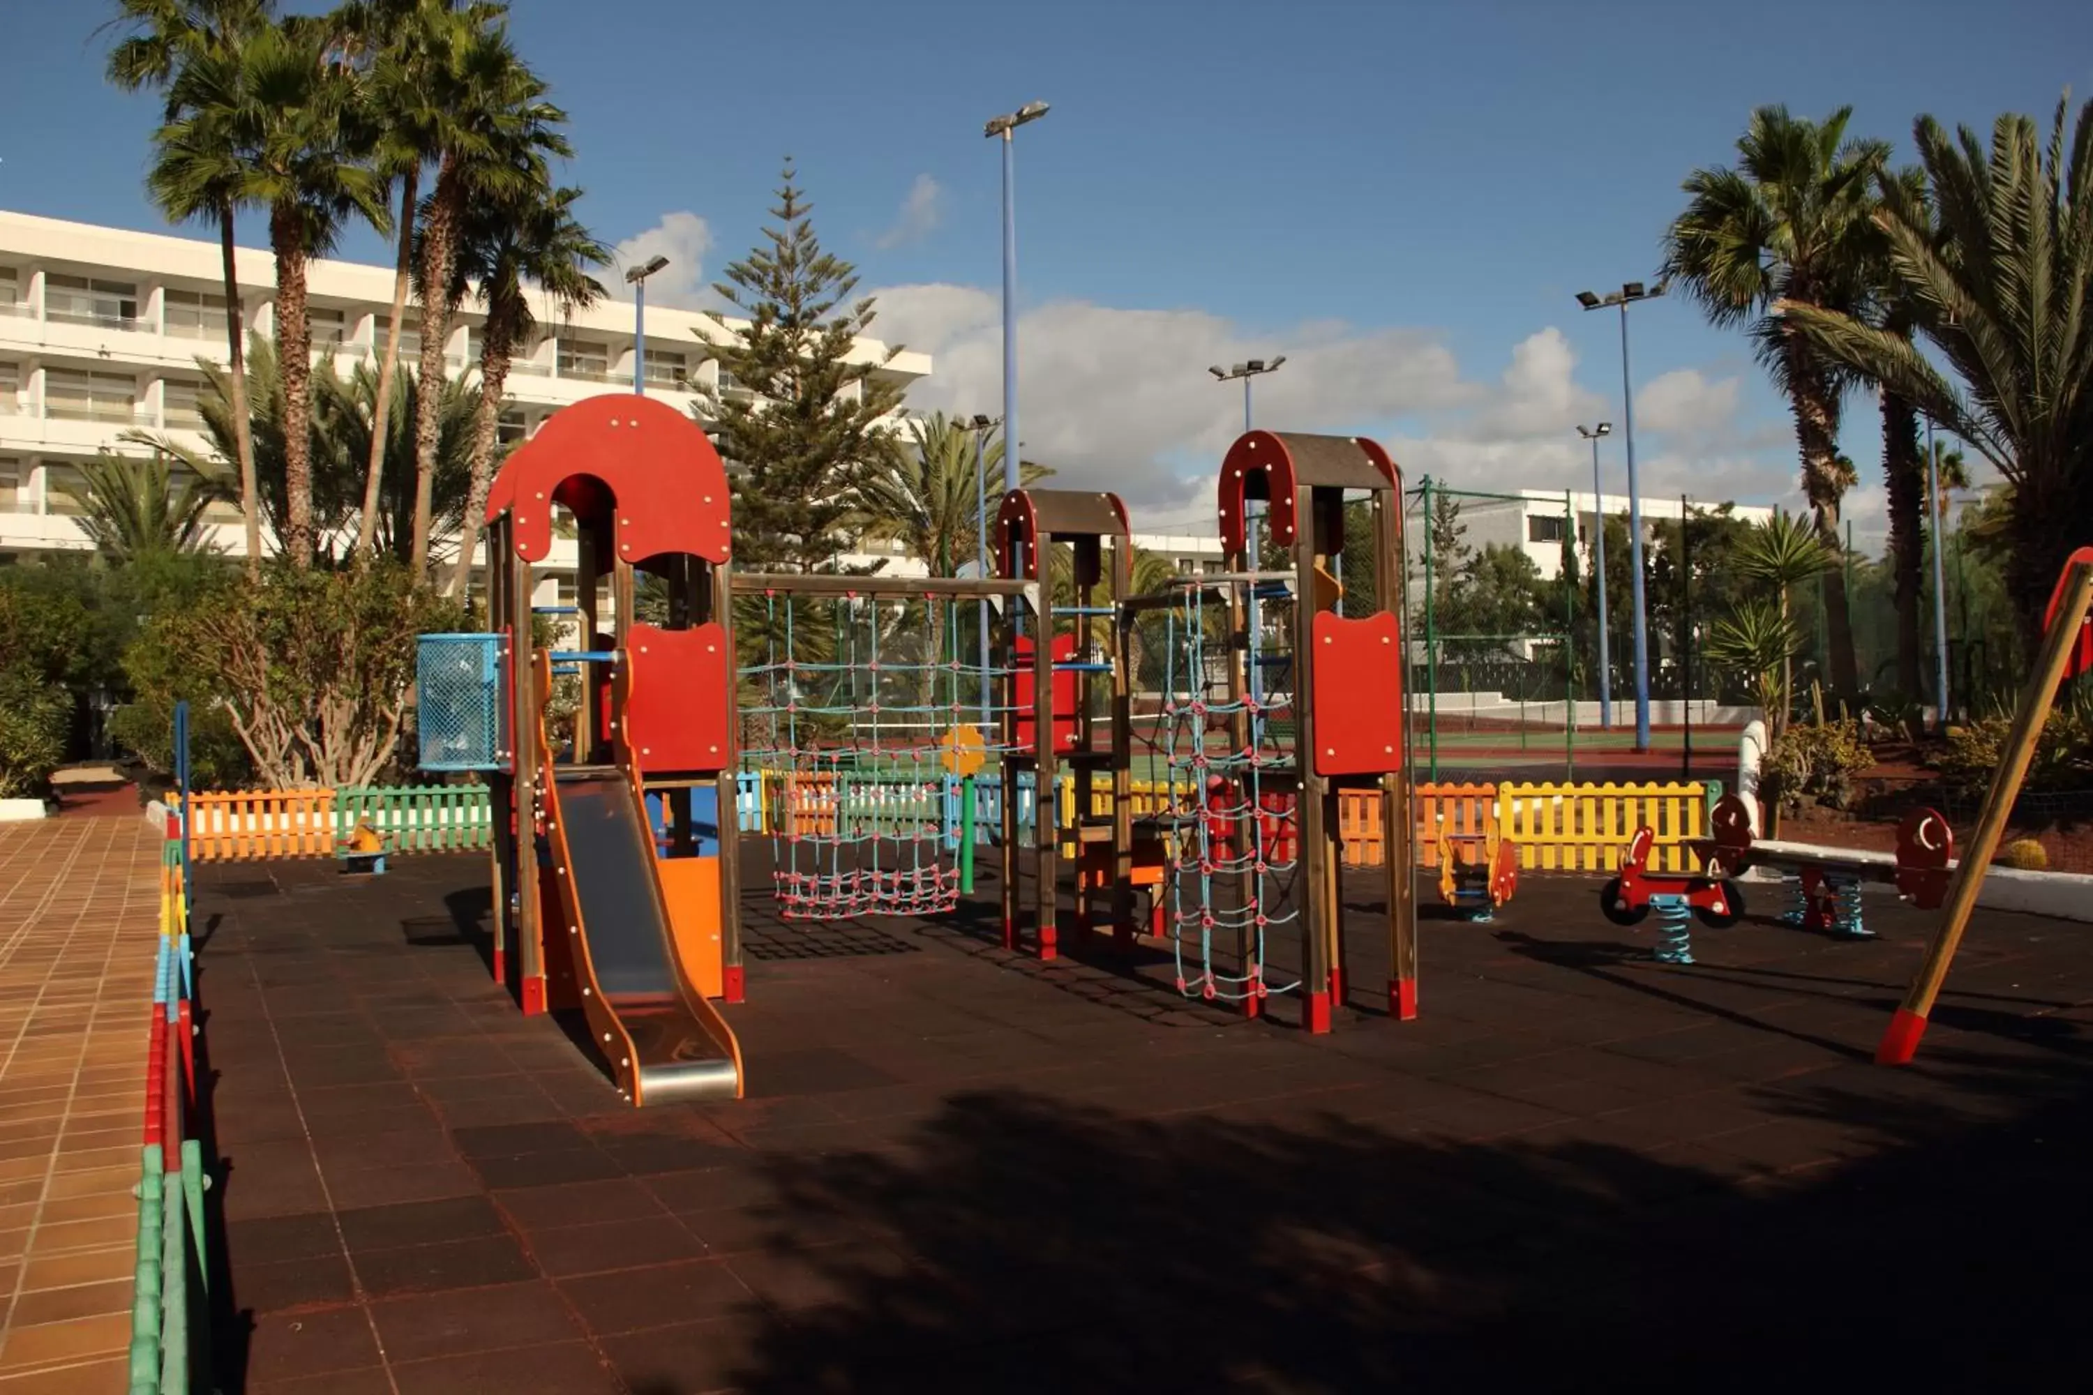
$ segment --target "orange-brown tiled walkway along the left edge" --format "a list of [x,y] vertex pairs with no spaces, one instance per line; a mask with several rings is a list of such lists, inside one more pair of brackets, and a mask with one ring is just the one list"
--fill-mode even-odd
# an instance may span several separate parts
[[0,1395],[123,1389],[159,837],[0,824]]

